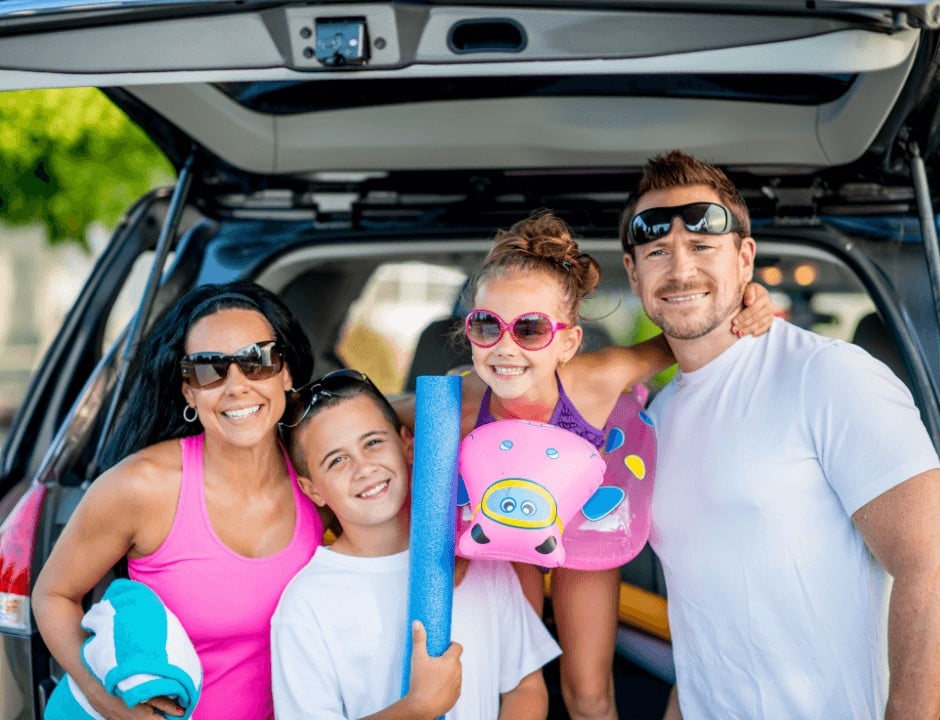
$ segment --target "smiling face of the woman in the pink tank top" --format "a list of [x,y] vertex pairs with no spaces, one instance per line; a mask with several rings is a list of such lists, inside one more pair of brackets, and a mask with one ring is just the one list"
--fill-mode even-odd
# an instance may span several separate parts
[[[186,354],[232,354],[252,343],[274,340],[274,330],[255,310],[228,309],[207,315],[190,328]],[[264,380],[249,380],[232,363],[224,382],[211,388],[183,384],[186,402],[199,412],[207,436],[238,447],[257,445],[275,432],[284,414],[285,392],[291,387],[290,371]]]

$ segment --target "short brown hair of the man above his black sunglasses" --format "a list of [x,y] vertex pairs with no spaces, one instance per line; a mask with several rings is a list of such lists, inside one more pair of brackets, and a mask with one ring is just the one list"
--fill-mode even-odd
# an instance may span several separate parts
[[633,255],[633,245],[627,242],[627,225],[633,218],[637,202],[652,190],[668,190],[684,185],[707,185],[718,193],[721,202],[727,205],[741,226],[740,237],[751,234],[751,218],[741,192],[720,168],[696,160],[681,150],[672,150],[666,155],[656,155],[646,161],[643,176],[636,190],[627,199],[620,216],[620,244],[624,252]]

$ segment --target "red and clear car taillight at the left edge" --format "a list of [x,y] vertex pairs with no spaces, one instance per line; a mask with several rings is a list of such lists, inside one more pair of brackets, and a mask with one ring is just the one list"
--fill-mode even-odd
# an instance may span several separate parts
[[33,485],[0,525],[0,632],[29,633],[33,543],[46,486]]

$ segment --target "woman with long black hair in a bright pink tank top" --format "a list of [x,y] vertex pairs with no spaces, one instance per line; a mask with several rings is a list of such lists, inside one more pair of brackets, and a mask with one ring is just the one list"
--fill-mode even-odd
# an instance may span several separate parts
[[82,663],[82,599],[125,558],[199,654],[192,717],[273,716],[271,614],[323,534],[277,430],[285,393],[312,371],[300,325],[254,283],[196,288],[154,323],[130,369],[106,455],[113,466],[91,484],[33,592],[46,645],[104,717],[183,714],[165,698],[128,708]]

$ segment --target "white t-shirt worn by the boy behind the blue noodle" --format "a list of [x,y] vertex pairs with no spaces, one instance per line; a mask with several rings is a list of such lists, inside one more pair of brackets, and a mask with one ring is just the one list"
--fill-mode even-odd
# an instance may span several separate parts
[[[276,717],[352,720],[399,700],[407,625],[408,551],[318,548],[271,620]],[[500,693],[561,653],[505,562],[470,563],[454,588],[451,638],[463,646],[463,684],[448,720],[496,720]]]

